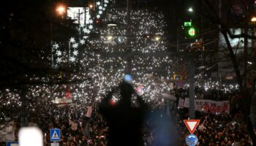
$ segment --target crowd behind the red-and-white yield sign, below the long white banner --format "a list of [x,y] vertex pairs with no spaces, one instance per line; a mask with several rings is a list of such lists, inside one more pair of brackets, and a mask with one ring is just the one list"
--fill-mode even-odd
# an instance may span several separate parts
[[[200,119],[200,125],[194,133],[199,139],[198,145],[252,145],[241,112],[235,115],[214,115],[197,112],[196,118]],[[181,131],[178,145],[184,145],[184,139],[189,135],[189,132],[182,120],[179,120],[177,126],[179,131]]]

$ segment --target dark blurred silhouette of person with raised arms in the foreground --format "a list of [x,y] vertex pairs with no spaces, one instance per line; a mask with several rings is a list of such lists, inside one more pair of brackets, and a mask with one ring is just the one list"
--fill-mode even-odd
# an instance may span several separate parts
[[135,91],[132,85],[121,82],[118,88],[121,99],[117,104],[111,102],[114,93],[111,91],[99,105],[99,112],[109,126],[108,146],[142,146],[141,128],[146,115],[146,103],[138,96],[138,106],[132,107],[131,98]]

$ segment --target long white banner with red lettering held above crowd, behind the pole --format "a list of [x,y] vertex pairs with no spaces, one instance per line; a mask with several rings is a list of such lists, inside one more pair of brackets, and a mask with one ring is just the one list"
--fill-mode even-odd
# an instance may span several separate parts
[[[185,99],[184,107],[189,107],[189,98]],[[200,112],[211,112],[214,114],[219,114],[222,112],[227,112],[227,114],[229,114],[230,102],[195,99],[195,110]]]

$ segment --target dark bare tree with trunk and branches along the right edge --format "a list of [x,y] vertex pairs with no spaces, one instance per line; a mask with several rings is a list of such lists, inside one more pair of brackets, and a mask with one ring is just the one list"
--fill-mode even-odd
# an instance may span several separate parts
[[[217,1],[204,0],[202,2],[205,7],[198,12],[211,23],[217,25],[219,32],[225,39],[226,47],[225,50],[222,50],[222,53],[225,53],[230,58],[230,62],[236,73],[240,95],[243,98],[243,100],[241,100],[241,105],[243,108],[242,113],[244,114],[244,121],[246,122],[246,128],[252,142],[255,145],[256,136],[253,131],[251,118],[252,95],[254,94],[252,91],[254,90],[252,90],[252,86],[246,84],[247,81],[253,82],[255,80],[255,76],[249,76],[249,74],[254,74],[255,66],[249,67],[247,65],[249,58],[255,58],[253,53],[249,53],[248,47],[248,40],[256,39],[254,34],[249,34],[249,22],[254,11],[254,8],[252,7],[254,1],[222,1],[222,7],[220,9],[219,4],[216,3]],[[236,9],[233,7],[234,4],[239,4],[241,6],[241,10],[243,11],[241,15],[236,14]],[[225,13],[223,12],[223,9],[225,9]],[[219,15],[220,10],[224,14]],[[243,31],[241,34],[236,35],[231,33],[230,28],[241,28]],[[244,38],[244,51],[242,55],[236,54],[237,48],[231,45],[230,38]]]

